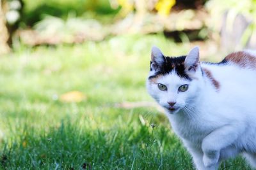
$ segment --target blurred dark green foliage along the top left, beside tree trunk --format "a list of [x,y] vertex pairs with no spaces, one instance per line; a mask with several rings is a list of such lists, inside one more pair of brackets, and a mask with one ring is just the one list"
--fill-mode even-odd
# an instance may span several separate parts
[[111,8],[108,0],[24,0],[24,4],[22,21],[27,25],[35,24],[45,15],[66,18],[70,12],[76,13],[77,16],[88,12],[102,16],[115,14],[118,11]]

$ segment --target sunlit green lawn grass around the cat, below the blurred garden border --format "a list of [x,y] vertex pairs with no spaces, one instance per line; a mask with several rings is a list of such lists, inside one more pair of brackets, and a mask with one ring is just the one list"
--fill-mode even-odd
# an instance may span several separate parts
[[[145,89],[150,47],[182,55],[163,36],[120,36],[56,47],[20,46],[0,58],[1,169],[193,169],[191,157]],[[61,94],[78,90],[80,103]],[[152,129],[150,124],[156,124]],[[249,169],[243,159],[221,169]]]

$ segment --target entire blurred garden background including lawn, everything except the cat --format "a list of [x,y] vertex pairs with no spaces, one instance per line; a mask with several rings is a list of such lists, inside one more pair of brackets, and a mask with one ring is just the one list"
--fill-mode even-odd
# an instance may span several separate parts
[[255,18],[255,0],[1,0],[0,168],[193,169],[145,89],[150,49],[217,62],[256,48]]

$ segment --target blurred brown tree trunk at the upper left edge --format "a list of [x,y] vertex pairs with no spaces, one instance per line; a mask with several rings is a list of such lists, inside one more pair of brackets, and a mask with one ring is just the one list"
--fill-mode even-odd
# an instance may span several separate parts
[[0,0],[0,55],[10,52],[10,46],[8,45],[10,35],[5,19],[6,8],[6,0]]

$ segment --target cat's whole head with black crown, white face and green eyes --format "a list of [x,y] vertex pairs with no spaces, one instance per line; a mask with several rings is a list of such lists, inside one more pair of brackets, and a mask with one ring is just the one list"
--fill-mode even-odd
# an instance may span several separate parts
[[152,48],[147,89],[166,111],[173,114],[189,109],[201,86],[198,46],[181,57],[166,57],[159,48]]

